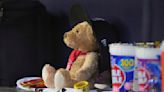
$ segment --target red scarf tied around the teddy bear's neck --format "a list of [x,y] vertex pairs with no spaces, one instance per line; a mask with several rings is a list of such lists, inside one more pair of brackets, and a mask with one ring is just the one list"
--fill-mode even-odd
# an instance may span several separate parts
[[79,50],[73,50],[71,52],[70,56],[69,56],[66,70],[70,70],[71,69],[72,64],[75,62],[75,60],[77,59],[77,57],[79,55],[86,55],[86,54],[87,54],[86,52],[81,52]]

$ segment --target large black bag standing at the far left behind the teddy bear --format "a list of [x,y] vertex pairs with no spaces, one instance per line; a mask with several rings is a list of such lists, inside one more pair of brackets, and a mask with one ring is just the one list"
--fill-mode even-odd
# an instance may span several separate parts
[[37,49],[40,49],[37,32],[43,32],[47,27],[40,23],[46,21],[39,20],[44,15],[43,11],[39,11],[42,9],[37,2],[5,1],[3,8],[0,24],[0,84],[13,86],[21,77],[39,75],[43,62],[37,60]]

